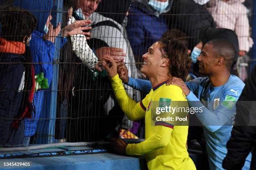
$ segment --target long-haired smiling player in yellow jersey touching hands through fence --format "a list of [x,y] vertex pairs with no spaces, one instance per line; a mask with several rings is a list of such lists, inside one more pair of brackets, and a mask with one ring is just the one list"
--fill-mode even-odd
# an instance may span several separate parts
[[[110,62],[110,64],[103,62],[103,66],[108,71],[115,96],[122,110],[131,120],[145,117],[145,140],[143,142],[127,145],[122,140],[113,138],[110,140],[111,149],[121,155],[146,154],[150,170],[195,170],[195,165],[187,153],[188,126],[174,125],[173,121],[154,121],[154,115],[151,113],[151,110],[153,111],[152,101],[159,101],[159,106],[161,105],[162,108],[170,106],[171,100],[172,103],[184,101],[184,105],[188,106],[187,99],[179,87],[166,85],[167,80],[172,76],[182,79],[187,77],[190,60],[186,47],[177,40],[165,38],[155,42],[143,55],[144,64],[141,72],[148,76],[153,89],[141,102],[135,102],[125,92],[122,80],[118,77],[118,64],[110,57],[104,57],[104,59]],[[160,103],[161,100],[164,102]],[[177,105],[179,107],[181,104]]]

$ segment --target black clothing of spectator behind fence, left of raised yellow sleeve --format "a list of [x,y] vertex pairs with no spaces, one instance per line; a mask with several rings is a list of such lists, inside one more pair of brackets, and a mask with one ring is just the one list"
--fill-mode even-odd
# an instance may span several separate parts
[[[73,90],[70,92],[65,136],[68,142],[90,142],[106,137],[123,119],[116,105],[105,115],[104,103],[112,91],[107,76],[93,72],[75,57],[77,63]],[[65,138],[66,138],[65,137]]]

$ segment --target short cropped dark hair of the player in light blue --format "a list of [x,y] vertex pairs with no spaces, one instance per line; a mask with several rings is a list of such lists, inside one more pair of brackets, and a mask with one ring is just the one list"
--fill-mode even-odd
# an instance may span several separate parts
[[206,44],[213,46],[215,57],[223,57],[226,67],[230,69],[236,58],[236,51],[234,46],[225,39],[210,40]]

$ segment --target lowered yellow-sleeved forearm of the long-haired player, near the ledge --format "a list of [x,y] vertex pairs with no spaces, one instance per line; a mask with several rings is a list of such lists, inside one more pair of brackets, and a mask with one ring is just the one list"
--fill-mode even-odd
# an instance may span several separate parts
[[154,135],[137,144],[128,144],[126,147],[127,155],[144,155],[153,153],[160,148],[168,145],[171,138],[172,129],[165,126],[155,126]]

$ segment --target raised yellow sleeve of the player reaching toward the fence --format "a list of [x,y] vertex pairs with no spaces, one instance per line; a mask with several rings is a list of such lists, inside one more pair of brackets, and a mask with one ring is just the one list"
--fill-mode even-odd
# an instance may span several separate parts
[[139,120],[145,117],[146,111],[143,106],[146,105],[147,97],[138,103],[131,99],[131,97],[126,93],[122,80],[119,78],[118,74],[110,78],[110,81],[118,104],[125,115],[127,115],[128,119]]

